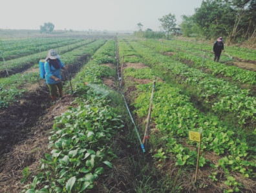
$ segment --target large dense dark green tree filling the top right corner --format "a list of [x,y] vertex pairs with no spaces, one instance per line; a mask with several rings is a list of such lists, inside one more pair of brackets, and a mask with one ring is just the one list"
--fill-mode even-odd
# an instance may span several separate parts
[[206,0],[195,9],[193,21],[206,38],[256,41],[256,0]]

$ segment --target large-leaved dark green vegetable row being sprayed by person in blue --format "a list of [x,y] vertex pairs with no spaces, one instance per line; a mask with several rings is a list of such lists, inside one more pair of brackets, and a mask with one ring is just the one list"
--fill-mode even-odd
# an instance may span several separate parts
[[23,192],[85,192],[94,187],[106,167],[112,168],[110,161],[116,157],[112,142],[123,127],[121,116],[114,113],[106,95],[84,84],[93,83],[109,92],[100,80],[108,71],[108,67],[99,65],[104,55],[105,60],[111,57],[114,61],[114,41],[104,44],[72,80],[79,106],[69,107],[56,118],[50,136],[51,152],[41,160],[41,172]]

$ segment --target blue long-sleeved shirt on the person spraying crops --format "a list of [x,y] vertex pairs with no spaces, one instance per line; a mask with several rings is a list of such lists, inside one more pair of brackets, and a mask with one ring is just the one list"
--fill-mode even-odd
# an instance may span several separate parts
[[60,81],[56,81],[52,77],[52,75],[54,75],[54,77],[57,77],[61,80],[61,68],[64,67],[64,64],[61,62],[60,59],[59,60],[59,64],[60,64],[60,68],[56,69],[54,68],[52,65],[49,64],[49,62],[45,61],[45,80],[47,82],[47,84],[56,84]]

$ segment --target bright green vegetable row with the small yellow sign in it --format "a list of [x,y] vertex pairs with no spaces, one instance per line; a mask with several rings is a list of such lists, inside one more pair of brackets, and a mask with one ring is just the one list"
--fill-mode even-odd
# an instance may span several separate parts
[[[125,54],[126,49],[122,45],[123,42],[119,44],[120,51],[122,50],[122,53]],[[129,49],[131,48],[127,49],[128,52]],[[125,79],[127,77],[134,77],[153,80],[156,76],[156,71],[151,68],[127,68],[124,70]],[[138,98],[133,102],[134,111],[140,118],[143,118],[148,113],[152,83],[143,85],[134,82],[133,84],[135,84],[139,93]],[[166,160],[171,154],[175,155],[176,165],[180,165],[180,167],[195,166],[197,152],[191,150],[191,145],[195,145],[195,143],[187,140],[188,131],[200,131],[200,129],[203,129],[202,149],[204,152],[213,151],[215,154],[222,156],[216,165],[210,164],[212,170],[219,167],[223,169],[226,183],[233,179],[231,174],[234,171],[240,172],[245,178],[252,177],[255,163],[248,161],[250,160],[249,157],[251,158],[251,156],[248,156],[250,154],[250,147],[246,145],[244,140],[237,138],[233,131],[229,131],[228,127],[219,118],[200,113],[189,102],[189,98],[181,93],[180,89],[172,87],[170,84],[165,82],[156,83],[154,105],[151,114],[151,119],[155,123],[153,125],[155,125],[158,131],[157,133],[151,133],[151,143],[156,143],[151,145],[158,149],[152,150],[156,161]],[[152,136],[155,134],[156,137]],[[208,164],[209,161],[211,162],[211,160],[201,156],[199,161],[200,167]],[[233,183],[239,184],[235,181]],[[233,184],[230,186],[232,187]]]

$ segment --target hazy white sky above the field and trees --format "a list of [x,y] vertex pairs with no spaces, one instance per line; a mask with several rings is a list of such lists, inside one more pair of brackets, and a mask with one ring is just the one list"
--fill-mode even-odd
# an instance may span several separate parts
[[158,18],[193,15],[202,0],[0,0],[1,29],[39,30],[45,22],[56,30],[160,30]]

